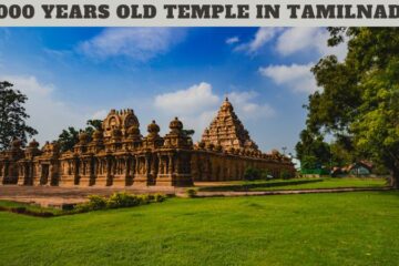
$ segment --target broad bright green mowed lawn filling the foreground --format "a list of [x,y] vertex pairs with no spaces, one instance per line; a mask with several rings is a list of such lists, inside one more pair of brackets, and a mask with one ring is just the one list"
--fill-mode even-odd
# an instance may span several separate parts
[[398,265],[399,192],[171,198],[0,213],[0,265]]

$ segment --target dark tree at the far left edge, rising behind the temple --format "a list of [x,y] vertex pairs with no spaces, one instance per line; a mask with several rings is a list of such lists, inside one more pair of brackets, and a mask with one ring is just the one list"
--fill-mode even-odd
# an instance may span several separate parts
[[28,98],[12,86],[7,81],[0,82],[0,151],[10,149],[13,139],[20,139],[24,145],[28,137],[38,134],[25,122],[30,117],[23,108]]

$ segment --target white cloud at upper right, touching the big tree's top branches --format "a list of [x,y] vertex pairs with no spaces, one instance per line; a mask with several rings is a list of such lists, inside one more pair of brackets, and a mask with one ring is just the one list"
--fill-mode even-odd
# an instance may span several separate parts
[[336,54],[339,60],[347,54],[347,44],[327,47],[329,32],[325,28],[289,28],[277,39],[276,49],[282,55],[291,55],[304,51],[317,51],[321,57]]

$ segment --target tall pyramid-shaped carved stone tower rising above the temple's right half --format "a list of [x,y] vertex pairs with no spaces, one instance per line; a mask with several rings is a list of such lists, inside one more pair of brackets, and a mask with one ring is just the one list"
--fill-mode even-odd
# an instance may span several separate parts
[[245,149],[258,151],[258,146],[250,140],[249,133],[234,112],[232,103],[226,98],[216,117],[205,129],[202,142],[205,145],[222,145],[224,150]]

